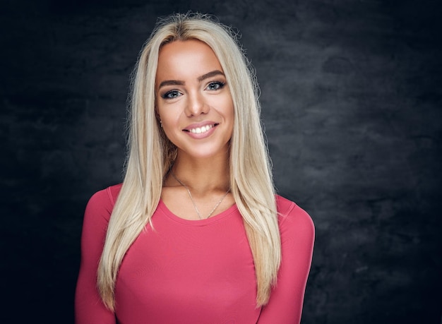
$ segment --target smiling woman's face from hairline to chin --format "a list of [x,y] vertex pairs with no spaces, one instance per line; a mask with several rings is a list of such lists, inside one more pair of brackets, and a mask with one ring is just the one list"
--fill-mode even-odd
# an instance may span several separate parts
[[157,114],[179,155],[227,154],[234,109],[213,50],[198,40],[165,44],[155,80]]

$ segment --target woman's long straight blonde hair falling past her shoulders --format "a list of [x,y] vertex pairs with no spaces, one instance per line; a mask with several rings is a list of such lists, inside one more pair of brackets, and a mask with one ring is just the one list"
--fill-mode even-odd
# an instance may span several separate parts
[[114,310],[114,286],[121,261],[160,201],[163,177],[177,149],[155,117],[158,52],[167,42],[196,39],[208,44],[225,72],[234,102],[230,141],[230,187],[253,254],[257,307],[267,304],[281,260],[275,189],[259,118],[258,85],[230,28],[198,13],[161,20],[143,47],[131,86],[129,156],[123,186],[114,205],[97,272],[102,301]]

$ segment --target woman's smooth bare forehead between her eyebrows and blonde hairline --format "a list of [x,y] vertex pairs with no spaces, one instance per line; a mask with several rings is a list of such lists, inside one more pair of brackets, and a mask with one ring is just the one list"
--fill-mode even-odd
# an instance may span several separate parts
[[222,67],[208,44],[200,40],[177,40],[161,47],[156,77],[157,80],[198,78],[214,70],[222,71]]

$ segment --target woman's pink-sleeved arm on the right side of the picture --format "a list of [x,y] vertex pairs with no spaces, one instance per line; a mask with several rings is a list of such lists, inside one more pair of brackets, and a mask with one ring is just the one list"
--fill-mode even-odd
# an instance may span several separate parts
[[280,218],[282,262],[277,284],[259,324],[300,323],[315,230],[310,216],[292,203]]

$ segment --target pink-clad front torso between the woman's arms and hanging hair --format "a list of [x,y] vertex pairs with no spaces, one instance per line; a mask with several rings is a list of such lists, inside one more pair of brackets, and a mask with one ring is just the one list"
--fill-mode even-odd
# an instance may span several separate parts
[[253,257],[239,215],[207,226],[155,215],[153,227],[121,264],[121,323],[256,323]]

